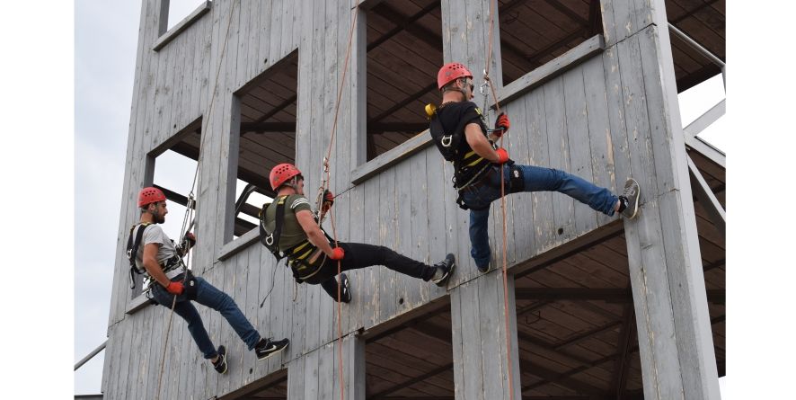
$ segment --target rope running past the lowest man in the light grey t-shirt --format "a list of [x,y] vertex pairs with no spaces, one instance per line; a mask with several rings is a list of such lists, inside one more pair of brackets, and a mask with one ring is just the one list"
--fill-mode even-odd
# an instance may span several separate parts
[[[218,90],[218,76],[221,74],[221,63],[222,63],[222,61],[224,59],[224,55],[226,54],[226,42],[229,39],[229,28],[230,28],[230,25],[232,25],[232,16],[234,14],[234,7],[235,7],[236,3],[237,2],[235,0],[233,0],[232,5],[230,6],[229,18],[226,20],[226,33],[224,34],[224,43],[221,46],[221,53],[220,53],[220,56],[218,58],[218,67],[216,68],[216,82],[213,85],[213,93],[210,95],[210,105],[209,105],[209,111],[208,111],[208,125],[210,124],[209,121],[210,121],[210,118],[212,118],[212,115],[213,115],[213,105],[216,103],[216,93],[217,93],[217,90]],[[201,138],[199,139],[199,159],[197,159],[197,161],[196,161],[196,170],[193,173],[193,182],[190,183],[190,192],[188,193],[188,203],[186,204],[185,216],[182,218],[182,227],[181,227],[181,232],[180,232],[180,240],[182,240],[182,238],[185,237],[185,234],[187,233],[188,230],[190,230],[190,227],[193,226],[193,223],[195,221],[195,219],[193,219],[193,212],[194,212],[194,209],[195,209],[195,201],[193,200],[194,199],[194,190],[196,189],[196,182],[197,182],[197,178],[199,177],[199,165],[201,164],[202,158],[204,157],[204,152],[202,151],[202,149],[205,146],[205,138],[207,136],[208,135],[202,135]],[[191,221],[190,225],[186,225],[189,220]],[[188,262],[185,265],[186,271],[185,271],[185,273],[183,274],[183,277],[182,277],[182,284],[183,285],[185,284],[185,280],[188,279],[188,266],[187,265],[190,265],[190,251],[188,253]],[[164,351],[163,351],[163,354],[162,354],[162,357],[161,357],[161,361],[160,361],[160,372],[157,375],[157,391],[155,392],[155,400],[160,399],[160,388],[161,388],[161,382],[163,381],[164,365],[165,365],[165,360],[166,360],[166,350],[168,349],[169,333],[172,330],[172,317],[174,316],[174,307],[176,305],[177,305],[177,295],[174,295],[174,298],[172,300],[172,308],[171,308],[171,311],[169,312],[169,322],[168,322],[168,324],[166,324],[166,332],[164,334],[164,337],[165,337],[165,339],[164,339]]]

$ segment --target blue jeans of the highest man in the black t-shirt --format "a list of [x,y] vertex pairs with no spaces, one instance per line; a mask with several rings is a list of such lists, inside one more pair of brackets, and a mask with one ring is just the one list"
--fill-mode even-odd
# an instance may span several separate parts
[[[571,173],[544,168],[534,165],[515,164],[523,174],[525,188],[511,188],[509,165],[503,165],[503,179],[506,193],[517,191],[559,191],[575,200],[588,204],[588,207],[608,216],[614,215],[614,206],[618,198],[594,183]],[[462,199],[470,208],[470,255],[475,265],[484,266],[490,262],[489,217],[490,205],[500,199],[500,167],[492,165],[481,184],[471,185],[463,189]]]

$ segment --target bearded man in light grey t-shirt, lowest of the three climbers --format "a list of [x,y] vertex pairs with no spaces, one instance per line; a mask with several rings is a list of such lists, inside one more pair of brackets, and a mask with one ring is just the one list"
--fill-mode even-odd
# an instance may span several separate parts
[[258,360],[265,360],[287,347],[287,339],[262,338],[229,295],[185,268],[181,257],[196,244],[196,237],[188,233],[183,243],[175,246],[163,228],[157,225],[165,222],[169,212],[163,191],[155,187],[142,189],[138,193],[138,208],[141,209],[141,219],[130,230],[128,244],[131,258],[135,257],[135,267],[139,273],[151,278],[150,295],[155,302],[169,308],[174,305],[174,312],[188,323],[188,332],[199,351],[213,363],[218,373],[226,373],[226,348],[222,345],[216,349],[210,341],[191,300],[221,313]]

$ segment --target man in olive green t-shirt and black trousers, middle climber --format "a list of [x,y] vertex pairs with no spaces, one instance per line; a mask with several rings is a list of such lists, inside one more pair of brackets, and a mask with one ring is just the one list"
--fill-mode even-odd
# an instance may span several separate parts
[[[277,194],[261,211],[263,244],[270,245],[271,252],[278,258],[279,252],[287,256],[287,265],[297,281],[320,284],[335,301],[338,262],[341,262],[341,271],[384,265],[413,278],[430,280],[440,287],[446,285],[455,269],[452,253],[441,262],[427,265],[381,245],[339,242],[337,247],[332,247],[332,240],[319,226],[304,195],[304,177],[298,168],[293,164],[275,166],[270,171],[270,184]],[[327,191],[319,218],[323,219],[323,213],[331,209],[333,199],[332,192]],[[351,293],[344,273],[340,285],[341,301],[348,303]]]

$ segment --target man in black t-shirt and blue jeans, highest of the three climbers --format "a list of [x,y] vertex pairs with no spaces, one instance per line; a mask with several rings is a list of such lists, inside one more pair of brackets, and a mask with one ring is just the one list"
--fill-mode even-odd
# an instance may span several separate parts
[[491,202],[500,199],[500,181],[506,193],[559,191],[608,216],[616,212],[634,218],[638,211],[639,184],[629,179],[616,196],[578,176],[553,168],[518,165],[494,141],[509,130],[509,117],[500,113],[495,129],[487,129],[473,100],[473,74],[461,63],[448,63],[437,74],[442,103],[427,107],[431,137],[445,158],[454,164],[456,200],[470,209],[470,254],[479,271],[490,271],[488,220]]

